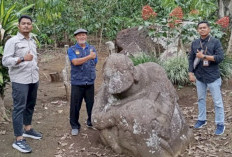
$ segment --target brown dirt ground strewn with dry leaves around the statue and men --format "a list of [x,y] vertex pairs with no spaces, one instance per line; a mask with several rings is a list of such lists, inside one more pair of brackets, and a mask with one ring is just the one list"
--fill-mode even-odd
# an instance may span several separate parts
[[[98,53],[97,80],[95,89],[102,83],[101,68],[107,55],[103,47]],[[87,118],[85,104],[81,109],[81,131],[78,136],[70,135],[69,103],[66,101],[63,82],[51,82],[49,73],[60,73],[64,68],[65,51],[40,51],[40,86],[38,100],[33,117],[33,127],[43,133],[42,140],[27,139],[33,151],[22,154],[12,148],[14,141],[12,123],[0,124],[0,157],[126,157],[114,153],[109,147],[103,146],[97,130],[85,126]],[[194,86],[177,88],[179,105],[190,128],[197,119],[197,97]],[[183,152],[182,157],[230,157],[232,156],[232,81],[224,81],[223,98],[226,113],[226,130],[222,136],[215,136],[214,109],[210,95],[207,99],[208,124],[200,130],[193,130],[194,139]],[[9,85],[5,104],[9,116],[12,111],[11,86]]]

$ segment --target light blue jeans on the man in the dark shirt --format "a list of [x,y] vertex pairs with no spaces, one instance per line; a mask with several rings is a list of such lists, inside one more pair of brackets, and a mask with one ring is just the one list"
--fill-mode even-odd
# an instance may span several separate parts
[[198,96],[198,120],[206,120],[206,95],[207,87],[213,97],[215,108],[215,123],[224,124],[224,107],[221,95],[221,78],[215,80],[212,83],[203,83],[196,81],[197,96]]

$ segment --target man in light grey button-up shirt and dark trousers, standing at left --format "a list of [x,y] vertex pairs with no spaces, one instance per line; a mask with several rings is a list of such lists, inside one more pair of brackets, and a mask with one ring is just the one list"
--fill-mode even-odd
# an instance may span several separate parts
[[6,42],[2,64],[9,68],[12,82],[12,119],[16,137],[12,146],[20,152],[29,153],[32,149],[24,137],[42,138],[31,126],[39,85],[39,68],[36,43],[30,34],[33,28],[32,19],[23,15],[18,22],[19,32]]

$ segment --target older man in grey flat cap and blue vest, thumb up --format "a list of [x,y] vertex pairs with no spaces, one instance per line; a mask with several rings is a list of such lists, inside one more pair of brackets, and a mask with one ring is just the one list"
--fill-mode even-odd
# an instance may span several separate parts
[[85,99],[88,114],[87,127],[92,127],[91,115],[94,103],[94,80],[96,78],[97,54],[94,46],[87,43],[85,29],[74,32],[77,43],[68,49],[71,61],[71,103],[70,124],[72,135],[78,135],[81,125],[79,112],[83,99]]

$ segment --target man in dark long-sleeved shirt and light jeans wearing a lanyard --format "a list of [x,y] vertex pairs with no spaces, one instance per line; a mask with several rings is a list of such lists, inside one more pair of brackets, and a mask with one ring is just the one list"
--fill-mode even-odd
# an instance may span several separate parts
[[[224,133],[224,107],[221,95],[219,63],[224,59],[221,43],[210,35],[207,21],[198,23],[200,38],[193,41],[189,56],[189,80],[196,81],[198,96],[198,120],[194,128],[206,125],[206,94],[209,89],[215,107],[216,135]],[[196,60],[199,60],[196,62]]]

